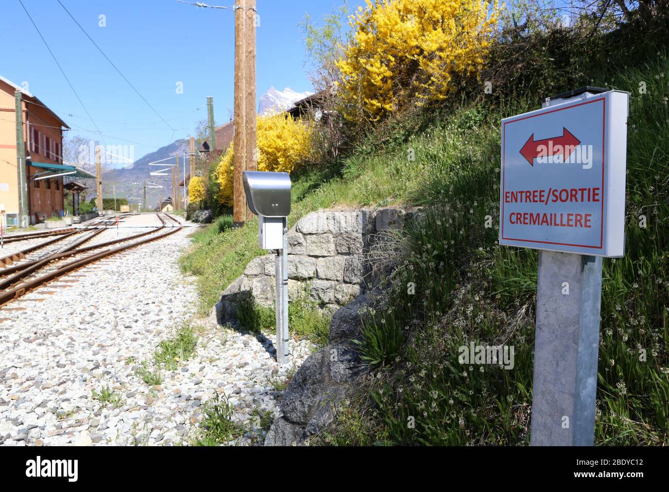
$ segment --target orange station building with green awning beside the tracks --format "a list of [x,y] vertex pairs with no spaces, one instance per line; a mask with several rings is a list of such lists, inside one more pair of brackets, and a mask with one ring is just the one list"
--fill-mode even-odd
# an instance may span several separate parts
[[[64,184],[94,177],[63,163],[63,131],[70,127],[36,96],[0,76],[0,204],[7,226],[19,225],[15,92],[21,92],[27,216],[36,224],[64,214]],[[65,179],[65,182],[64,182]]]

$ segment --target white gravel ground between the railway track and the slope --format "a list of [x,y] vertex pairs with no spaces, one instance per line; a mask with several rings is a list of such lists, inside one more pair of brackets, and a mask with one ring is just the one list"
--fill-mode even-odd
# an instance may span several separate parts
[[[147,223],[155,216],[128,218],[95,242]],[[274,387],[313,347],[292,341],[293,361],[280,366],[272,340],[195,319],[196,279],[178,264],[191,232],[106,258],[54,282],[77,280],[66,288],[43,286],[0,308],[0,445],[190,444],[215,392],[229,397],[233,420],[248,429],[230,444],[262,443],[254,408],[278,416],[282,392]],[[147,361],[153,371],[155,347],[184,323],[199,327],[193,359],[162,370],[162,384],[145,384],[136,370]],[[92,398],[107,387],[117,406]]]

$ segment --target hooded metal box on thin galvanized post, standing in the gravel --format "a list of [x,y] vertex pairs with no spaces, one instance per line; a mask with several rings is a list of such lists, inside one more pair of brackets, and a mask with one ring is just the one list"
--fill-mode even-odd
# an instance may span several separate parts
[[258,243],[264,250],[276,250],[276,361],[287,361],[288,334],[288,216],[290,176],[288,173],[244,171],[246,201],[258,216]]

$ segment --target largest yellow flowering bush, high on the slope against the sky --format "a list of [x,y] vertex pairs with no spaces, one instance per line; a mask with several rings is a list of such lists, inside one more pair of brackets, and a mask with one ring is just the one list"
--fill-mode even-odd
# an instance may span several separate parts
[[409,100],[442,100],[454,76],[478,74],[502,8],[492,1],[366,0],[337,62],[345,116],[377,120]]

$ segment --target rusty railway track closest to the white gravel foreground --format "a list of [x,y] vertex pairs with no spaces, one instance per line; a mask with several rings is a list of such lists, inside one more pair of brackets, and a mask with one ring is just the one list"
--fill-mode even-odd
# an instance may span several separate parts
[[41,252],[34,258],[27,258],[35,251],[33,248],[28,248],[32,251],[27,254],[24,250],[25,261],[0,269],[0,307],[98,260],[165,238],[183,228],[179,220],[169,214],[157,214],[157,217],[161,226],[149,232],[142,232],[91,246],[82,246],[85,242],[107,230],[106,228],[99,228],[93,232],[84,233],[78,238],[75,238],[76,234],[73,234],[74,242],[56,248],[54,252],[50,250],[47,253]]

